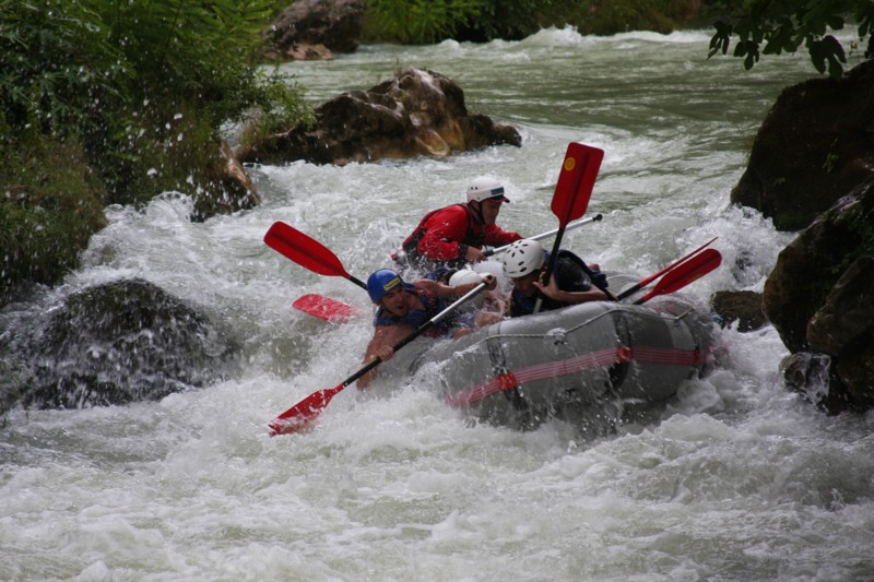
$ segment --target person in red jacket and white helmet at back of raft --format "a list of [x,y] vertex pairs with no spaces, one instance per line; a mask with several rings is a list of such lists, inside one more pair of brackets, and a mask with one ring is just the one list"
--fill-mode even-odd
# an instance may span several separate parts
[[403,241],[403,253],[395,253],[395,260],[403,266],[405,258],[410,266],[423,272],[485,260],[484,245],[504,246],[522,238],[495,224],[504,202],[510,201],[500,182],[487,176],[474,178],[468,187],[468,202],[427,213]]

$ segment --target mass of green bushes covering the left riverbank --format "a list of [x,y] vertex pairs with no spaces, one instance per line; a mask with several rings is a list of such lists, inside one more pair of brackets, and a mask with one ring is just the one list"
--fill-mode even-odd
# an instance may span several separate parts
[[311,118],[258,60],[276,5],[0,0],[0,305],[73,268],[105,203],[215,191],[224,123]]

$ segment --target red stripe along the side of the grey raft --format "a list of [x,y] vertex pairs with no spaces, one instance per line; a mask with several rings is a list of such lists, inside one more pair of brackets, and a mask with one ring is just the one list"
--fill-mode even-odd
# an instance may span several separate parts
[[630,347],[619,346],[614,349],[592,352],[570,359],[547,361],[515,370],[498,376],[497,378],[486,380],[466,390],[462,390],[457,394],[448,396],[446,402],[456,408],[470,406],[492,394],[497,394],[505,390],[512,390],[525,382],[558,378],[582,370],[603,368],[612,366],[613,364],[631,360],[647,364],[697,366],[704,361],[704,358],[699,349],[670,349],[661,347],[635,347],[633,349]]

